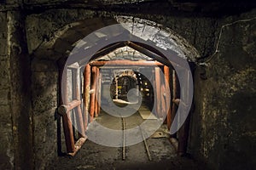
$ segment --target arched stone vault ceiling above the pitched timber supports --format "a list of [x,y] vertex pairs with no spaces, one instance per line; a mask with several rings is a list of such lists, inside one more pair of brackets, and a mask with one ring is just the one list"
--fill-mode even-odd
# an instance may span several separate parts
[[[87,24],[89,21],[90,25]],[[84,63],[88,63],[88,59],[91,59],[94,55],[94,53],[91,53],[92,48],[97,47],[98,44],[104,43],[105,45],[102,46],[102,48],[98,48],[98,50],[104,50],[104,48],[111,44],[111,38],[123,37],[123,34],[125,34],[128,36],[128,39],[136,37],[140,39],[138,42],[143,41],[150,44],[146,47],[143,46],[143,43],[137,43],[142,48],[147,48],[148,51],[157,54],[161,58],[165,58],[167,56],[158,53],[160,50],[166,51],[165,53],[168,54],[169,57],[188,59],[191,61],[195,61],[195,59],[200,58],[198,51],[183,37],[179,37],[177,33],[167,27],[158,25],[153,21],[134,18],[131,16],[115,16],[108,20],[95,18],[90,19],[89,21],[81,20],[64,26],[59,31],[55,32],[55,37],[52,37],[49,42],[43,42],[37,51],[34,52],[34,55],[37,55],[38,58],[42,56],[43,58],[48,57],[55,60],[65,59],[65,57],[68,57],[73,58],[73,61],[67,65],[72,65],[75,62],[79,62],[80,65],[84,65]],[[116,23],[119,25],[112,27],[113,24]],[[110,28],[107,28],[107,31],[102,30],[108,26],[110,26]],[[122,48],[119,52],[115,51],[115,57],[118,57],[117,53],[134,53],[132,55],[134,59],[148,59],[140,50],[137,51],[141,54],[137,53],[134,49],[131,50],[131,48],[123,47],[125,47],[124,44],[116,44],[114,48],[108,49],[108,53],[106,54],[113,52],[116,48]],[[94,59],[106,54],[98,55]],[[152,55],[148,56],[151,59],[154,59]],[[111,56],[107,57],[111,59]],[[155,60],[160,61],[159,59]],[[165,64],[165,62],[161,63]]]

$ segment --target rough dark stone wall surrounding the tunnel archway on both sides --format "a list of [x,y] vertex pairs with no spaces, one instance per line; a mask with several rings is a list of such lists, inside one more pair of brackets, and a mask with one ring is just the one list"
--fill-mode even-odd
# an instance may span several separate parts
[[[32,163],[35,169],[43,169],[55,158],[54,115],[58,88],[55,61],[65,57],[66,49],[70,50],[71,44],[79,38],[114,24],[114,16],[127,15],[132,20],[135,17],[138,30],[146,26],[141,27],[139,21],[142,19],[170,28],[173,35],[182,37],[179,40],[186,40],[184,46],[195,47],[200,57],[212,54],[222,24],[255,16],[237,14],[222,20],[172,13],[170,6],[162,7],[160,3],[139,6],[140,1],[97,1],[97,4],[106,5],[136,2],[131,8],[126,8],[126,4],[102,8],[97,4],[90,6],[92,3],[87,4],[87,1],[82,3],[88,8],[73,8],[72,5],[69,8],[67,4],[62,8],[63,2],[58,1],[55,6],[55,0],[25,2],[44,3],[44,8],[40,4],[37,8],[22,6],[26,16],[15,6],[11,12],[0,12],[0,121],[3,123],[0,126],[0,136],[3,136],[0,139],[0,169],[11,169],[14,165],[17,169],[28,169]],[[163,10],[153,10],[158,7]],[[177,3],[174,8],[197,10],[191,3]],[[84,24],[77,26],[78,22]],[[255,20],[225,27],[220,52],[207,67],[198,67],[195,72],[196,110],[189,147],[192,155],[201,156],[215,169],[256,167],[255,39]]]

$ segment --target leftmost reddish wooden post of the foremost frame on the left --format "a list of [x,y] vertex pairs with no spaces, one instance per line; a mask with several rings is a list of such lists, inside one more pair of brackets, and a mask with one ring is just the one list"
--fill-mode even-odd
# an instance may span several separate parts
[[[61,88],[63,88],[63,104],[67,105],[68,103],[68,87],[67,87],[67,70],[63,71],[62,74],[62,84]],[[70,120],[70,111],[67,111],[67,114],[62,116],[63,119],[63,128],[65,135],[65,142],[67,147],[67,152],[74,152],[74,139],[73,139],[73,126]]]

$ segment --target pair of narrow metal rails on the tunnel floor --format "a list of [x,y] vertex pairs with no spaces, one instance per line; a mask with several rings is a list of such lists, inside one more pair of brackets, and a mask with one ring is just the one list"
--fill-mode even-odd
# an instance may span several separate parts
[[[126,155],[125,154],[125,150],[126,150],[126,147],[125,147],[125,124],[126,124],[126,122],[125,122],[124,117],[121,117],[121,119],[122,119],[122,129],[123,129],[122,159],[125,160],[125,158],[126,158],[126,156],[125,156]],[[145,136],[144,136],[144,133],[143,133],[143,128],[139,126],[139,129],[140,129],[140,132],[141,132],[142,137],[143,137],[143,143],[144,143],[145,150],[147,152],[148,160],[152,161],[150,150],[148,148],[147,139],[145,139]]]

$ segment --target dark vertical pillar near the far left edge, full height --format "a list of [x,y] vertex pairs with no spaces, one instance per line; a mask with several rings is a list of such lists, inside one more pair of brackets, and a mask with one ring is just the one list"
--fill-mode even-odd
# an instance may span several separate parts
[[[7,46],[10,68],[10,105],[12,112],[15,169],[33,169],[31,61],[27,52],[25,14],[7,12]],[[13,152],[13,153],[12,153]]]

